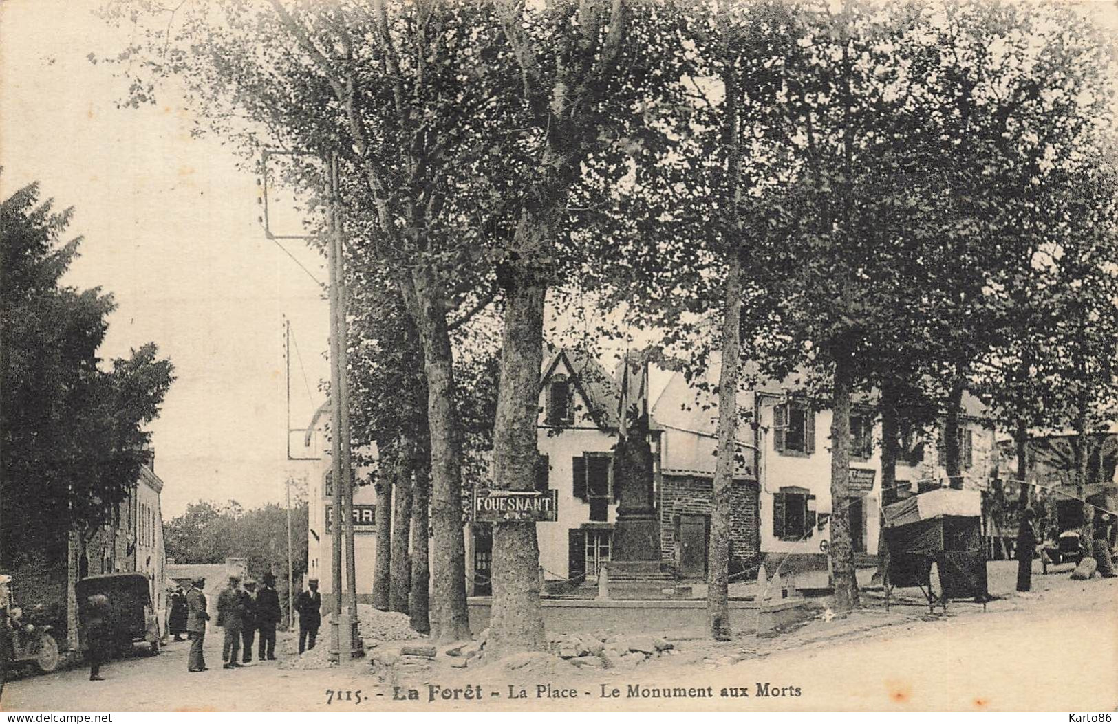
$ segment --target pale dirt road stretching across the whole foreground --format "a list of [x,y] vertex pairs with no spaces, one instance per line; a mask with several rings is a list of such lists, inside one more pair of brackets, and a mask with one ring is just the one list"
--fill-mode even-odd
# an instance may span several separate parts
[[[1003,572],[991,565],[992,590],[998,592]],[[927,608],[915,606],[885,612],[870,599],[864,611],[814,620],[775,639],[680,641],[674,656],[627,671],[580,670],[559,659],[544,668],[510,670],[494,663],[454,669],[439,657],[443,663],[405,682],[398,693],[406,696],[414,688],[414,701],[395,699],[397,693],[364,661],[324,669],[263,663],[222,670],[220,637],[211,636],[208,671],[188,674],[188,645],[172,644],[154,658],[113,661],[103,669],[105,682],[91,683],[85,669],[72,669],[9,683],[0,707],[1112,711],[1118,706],[1118,579],[1079,582],[1049,575],[1036,579],[1034,591],[994,601],[985,613],[974,604],[956,604],[946,617],[929,617]],[[704,663],[724,656],[742,660]],[[435,701],[430,685],[438,687]],[[765,685],[769,695],[758,696]],[[443,690],[455,688],[457,698],[442,698]],[[656,689],[689,688],[710,696],[651,696]],[[730,696],[735,688],[739,696]],[[480,690],[481,699],[465,698],[467,690]],[[524,697],[514,697],[521,690]]]

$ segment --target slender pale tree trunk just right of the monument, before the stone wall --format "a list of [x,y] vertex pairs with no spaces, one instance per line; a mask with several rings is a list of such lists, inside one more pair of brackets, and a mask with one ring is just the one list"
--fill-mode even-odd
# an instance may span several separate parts
[[738,432],[738,370],[741,356],[741,260],[729,250],[726,311],[722,317],[722,370],[718,378],[718,457],[710,512],[710,566],[707,573],[707,623],[718,641],[730,639],[730,499]]

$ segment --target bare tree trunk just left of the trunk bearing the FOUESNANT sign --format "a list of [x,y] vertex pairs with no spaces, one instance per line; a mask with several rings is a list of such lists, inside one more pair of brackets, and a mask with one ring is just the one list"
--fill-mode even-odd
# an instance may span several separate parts
[[427,372],[430,427],[435,590],[432,628],[440,641],[470,638],[466,610],[466,554],[462,531],[462,441],[454,404],[454,358],[446,326],[445,293],[434,273],[413,273]]

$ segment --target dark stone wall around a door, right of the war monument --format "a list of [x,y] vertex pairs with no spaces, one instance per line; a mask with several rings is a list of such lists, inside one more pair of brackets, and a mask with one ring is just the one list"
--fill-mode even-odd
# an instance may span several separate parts
[[[664,561],[675,561],[675,523],[681,514],[711,513],[713,480],[698,476],[665,474],[661,479],[660,550]],[[730,556],[751,565],[758,556],[757,484],[735,480],[730,499]]]

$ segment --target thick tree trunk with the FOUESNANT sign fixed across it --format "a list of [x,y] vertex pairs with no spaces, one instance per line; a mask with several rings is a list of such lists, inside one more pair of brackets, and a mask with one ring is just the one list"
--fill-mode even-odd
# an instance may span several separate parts
[[[547,295],[539,249],[549,232],[549,225],[525,209],[517,229],[522,256],[506,261],[500,272],[505,307],[493,427],[493,483],[498,489],[534,487]],[[539,565],[536,523],[493,525],[493,609],[487,646],[496,656],[544,646]]]

